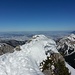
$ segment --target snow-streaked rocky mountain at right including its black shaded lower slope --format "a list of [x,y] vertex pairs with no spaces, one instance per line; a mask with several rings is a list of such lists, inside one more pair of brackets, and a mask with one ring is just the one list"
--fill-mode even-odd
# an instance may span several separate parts
[[75,34],[71,34],[57,41],[57,49],[65,60],[75,68]]

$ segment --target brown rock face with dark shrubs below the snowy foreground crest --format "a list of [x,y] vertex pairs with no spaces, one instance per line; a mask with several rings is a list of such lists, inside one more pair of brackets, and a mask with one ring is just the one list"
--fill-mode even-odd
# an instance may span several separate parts
[[[69,69],[64,64],[65,60],[61,54],[50,53],[50,56],[48,56],[46,60],[43,60],[43,62],[40,63],[40,69],[44,75],[60,75],[60,73],[62,75],[66,73],[66,75],[70,75]],[[63,65],[63,67],[60,65]],[[60,68],[62,68],[62,70],[65,69],[65,72],[62,72]]]

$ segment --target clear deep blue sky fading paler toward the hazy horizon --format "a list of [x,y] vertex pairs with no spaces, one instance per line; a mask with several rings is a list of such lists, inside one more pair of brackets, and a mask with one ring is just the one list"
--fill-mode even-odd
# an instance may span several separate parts
[[75,30],[75,0],[0,0],[0,31]]

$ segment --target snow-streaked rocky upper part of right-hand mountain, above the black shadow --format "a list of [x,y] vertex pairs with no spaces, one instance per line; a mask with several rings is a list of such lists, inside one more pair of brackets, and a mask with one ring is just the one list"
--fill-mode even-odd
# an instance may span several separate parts
[[58,50],[65,56],[75,53],[75,35],[71,34],[59,40],[57,43]]

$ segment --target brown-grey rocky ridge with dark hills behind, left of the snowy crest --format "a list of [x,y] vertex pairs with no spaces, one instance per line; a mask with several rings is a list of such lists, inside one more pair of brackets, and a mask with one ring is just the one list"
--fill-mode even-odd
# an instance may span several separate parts
[[0,55],[5,53],[13,53],[14,50],[20,51],[20,45],[25,43],[26,41],[0,40]]

